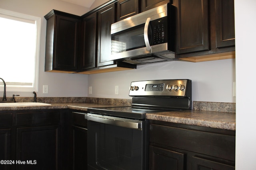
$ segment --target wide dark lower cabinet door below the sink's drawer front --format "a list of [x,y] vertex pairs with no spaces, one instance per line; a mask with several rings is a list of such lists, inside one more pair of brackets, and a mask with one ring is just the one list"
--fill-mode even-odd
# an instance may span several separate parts
[[59,162],[58,126],[17,128],[17,170],[57,170]]

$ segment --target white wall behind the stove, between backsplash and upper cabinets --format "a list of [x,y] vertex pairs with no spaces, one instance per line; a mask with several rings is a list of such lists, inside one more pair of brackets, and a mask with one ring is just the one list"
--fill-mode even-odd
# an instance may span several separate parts
[[[88,96],[129,99],[132,81],[182,78],[192,80],[193,101],[236,102],[233,97],[235,59],[199,63],[170,61],[139,65],[135,70],[90,74],[88,86],[92,86],[92,94]],[[119,86],[118,95],[115,86]]]

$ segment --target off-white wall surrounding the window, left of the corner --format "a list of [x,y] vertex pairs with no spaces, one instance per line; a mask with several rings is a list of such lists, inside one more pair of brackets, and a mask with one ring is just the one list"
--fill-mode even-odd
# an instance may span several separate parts
[[[42,18],[39,61],[39,97],[86,97],[87,75],[44,72],[46,20],[44,16],[51,10],[59,10],[81,16],[89,8],[70,4],[61,0],[0,0],[0,8]],[[48,94],[42,94],[43,85],[48,85]],[[1,88],[2,91],[2,88]],[[2,94],[2,93],[0,93]],[[6,92],[7,97],[19,94],[33,96],[32,92]]]

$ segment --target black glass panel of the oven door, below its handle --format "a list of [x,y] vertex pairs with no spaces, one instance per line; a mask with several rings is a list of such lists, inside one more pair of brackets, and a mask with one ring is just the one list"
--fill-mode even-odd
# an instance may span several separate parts
[[142,131],[88,121],[88,164],[96,169],[142,170]]

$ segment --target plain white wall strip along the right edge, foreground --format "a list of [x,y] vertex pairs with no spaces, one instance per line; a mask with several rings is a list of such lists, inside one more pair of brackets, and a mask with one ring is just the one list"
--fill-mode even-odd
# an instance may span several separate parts
[[255,0],[235,0],[236,170],[256,169],[255,7]]

